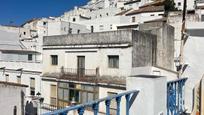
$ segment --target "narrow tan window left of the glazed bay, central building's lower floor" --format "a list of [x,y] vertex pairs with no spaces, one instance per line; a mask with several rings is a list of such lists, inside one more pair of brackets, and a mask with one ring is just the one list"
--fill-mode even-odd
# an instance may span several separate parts
[[57,104],[57,86],[51,85],[50,87],[50,104],[56,106]]

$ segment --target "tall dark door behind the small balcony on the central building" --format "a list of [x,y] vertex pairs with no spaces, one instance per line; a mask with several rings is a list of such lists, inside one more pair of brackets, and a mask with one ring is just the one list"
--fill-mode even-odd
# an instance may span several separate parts
[[77,57],[77,74],[79,77],[85,75],[85,56]]

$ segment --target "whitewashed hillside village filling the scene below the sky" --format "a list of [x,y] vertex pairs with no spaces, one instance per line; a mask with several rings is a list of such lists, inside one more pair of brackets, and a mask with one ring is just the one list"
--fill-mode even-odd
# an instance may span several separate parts
[[[0,25],[0,92],[9,95],[0,102],[11,100],[0,104],[2,114],[44,114],[139,90],[130,115],[203,115],[204,0],[166,1],[90,0],[58,17]],[[179,90],[176,104],[171,88]],[[124,109],[114,101],[109,112],[125,115],[121,103]]]

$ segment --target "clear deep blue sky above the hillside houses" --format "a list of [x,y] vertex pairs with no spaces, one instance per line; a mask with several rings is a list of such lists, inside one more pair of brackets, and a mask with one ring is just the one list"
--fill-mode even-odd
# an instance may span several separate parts
[[[0,0],[0,25],[19,26],[32,18],[60,16],[89,0]],[[11,24],[12,23],[12,24]]]

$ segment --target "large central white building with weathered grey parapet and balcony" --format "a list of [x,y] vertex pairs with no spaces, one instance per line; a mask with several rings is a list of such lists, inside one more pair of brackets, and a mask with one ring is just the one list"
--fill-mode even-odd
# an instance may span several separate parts
[[[168,44],[173,44],[173,39],[167,37],[172,40]],[[165,57],[160,60],[154,54],[161,56],[167,52],[159,51],[162,45],[155,38],[132,30],[44,37],[42,96],[45,103],[64,107],[73,99],[85,103],[117,94],[125,90],[126,77],[132,74],[168,75],[168,80],[176,79],[177,73],[171,70],[173,47],[166,46],[172,55],[166,58],[172,61]],[[105,112],[104,107],[100,108],[101,112]]]

